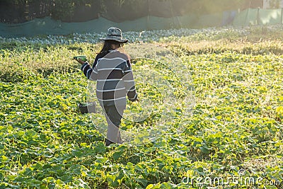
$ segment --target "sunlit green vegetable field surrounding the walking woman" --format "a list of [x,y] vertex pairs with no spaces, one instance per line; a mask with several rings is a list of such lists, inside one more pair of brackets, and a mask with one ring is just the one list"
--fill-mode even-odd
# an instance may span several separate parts
[[[162,122],[161,93],[140,84],[152,111],[123,120],[122,129],[173,127],[151,142],[110,147],[95,120],[79,113],[88,81],[71,59],[92,62],[101,35],[1,38],[0,188],[283,188],[282,26],[125,33],[132,44],[172,52],[190,81],[132,61],[137,82],[147,67],[163,71],[183,104]],[[191,115],[182,84],[193,88]]]

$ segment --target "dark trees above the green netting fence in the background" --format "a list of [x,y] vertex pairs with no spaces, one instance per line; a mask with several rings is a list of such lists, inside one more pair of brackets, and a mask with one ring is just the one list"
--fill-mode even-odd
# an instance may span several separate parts
[[262,6],[262,0],[0,0],[0,22],[23,23],[51,16],[82,22],[100,16],[122,22],[144,16],[172,17]]

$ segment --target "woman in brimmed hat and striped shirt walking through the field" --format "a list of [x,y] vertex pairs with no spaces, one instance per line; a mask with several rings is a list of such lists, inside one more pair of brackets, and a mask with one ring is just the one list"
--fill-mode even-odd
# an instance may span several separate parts
[[109,146],[112,143],[122,143],[119,127],[126,108],[126,96],[129,101],[138,99],[129,57],[119,51],[128,40],[122,38],[119,28],[109,28],[107,37],[102,40],[104,45],[96,56],[93,67],[81,59],[78,62],[82,64],[83,74],[88,79],[97,81],[96,96],[108,122],[105,145]]

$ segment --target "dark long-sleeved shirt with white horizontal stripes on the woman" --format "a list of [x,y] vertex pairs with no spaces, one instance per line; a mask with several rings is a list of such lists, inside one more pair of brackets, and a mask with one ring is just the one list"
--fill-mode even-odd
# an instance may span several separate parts
[[81,66],[83,74],[88,79],[97,81],[96,96],[100,102],[112,103],[118,100],[137,100],[134,76],[129,57],[113,50],[106,55],[98,54],[93,67],[86,62]]

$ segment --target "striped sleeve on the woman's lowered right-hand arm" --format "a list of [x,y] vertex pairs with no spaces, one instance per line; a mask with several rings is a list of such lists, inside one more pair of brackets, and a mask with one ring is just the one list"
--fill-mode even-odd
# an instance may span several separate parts
[[137,100],[137,91],[134,84],[134,76],[132,74],[132,66],[127,60],[125,69],[124,69],[124,76],[123,81],[125,83],[125,88],[127,91],[127,96],[129,98],[129,101],[136,101]]

